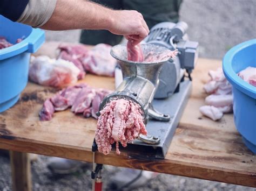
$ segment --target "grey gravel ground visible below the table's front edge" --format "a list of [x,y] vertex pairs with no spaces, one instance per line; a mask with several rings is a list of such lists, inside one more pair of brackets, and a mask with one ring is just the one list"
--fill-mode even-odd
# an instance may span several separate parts
[[[78,172],[65,176],[53,175],[46,167],[48,157],[40,155],[36,162],[32,162],[32,181],[33,190],[38,191],[73,191],[73,190],[90,190],[91,188],[91,164],[87,164]],[[11,171],[9,159],[0,157],[0,190],[11,190]],[[118,168],[105,166],[103,169],[104,190],[113,190],[110,187],[110,174],[118,172]],[[130,189],[131,190],[131,189]],[[146,183],[143,187],[132,190],[149,191],[149,190],[232,190],[232,191],[255,191],[256,189],[220,183],[208,180],[186,178],[169,174],[159,174],[156,178]]]

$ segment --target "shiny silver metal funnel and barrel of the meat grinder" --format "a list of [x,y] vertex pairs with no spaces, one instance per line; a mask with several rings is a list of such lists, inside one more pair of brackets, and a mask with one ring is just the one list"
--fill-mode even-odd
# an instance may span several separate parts
[[123,82],[116,90],[100,103],[101,111],[112,100],[124,98],[140,105],[144,116],[144,124],[149,117],[158,121],[170,121],[170,116],[154,110],[152,101],[159,84],[159,73],[163,64],[174,54],[169,49],[153,44],[142,44],[145,56],[143,62],[127,60],[127,50],[124,45],[112,47],[111,55],[117,59],[123,74]]

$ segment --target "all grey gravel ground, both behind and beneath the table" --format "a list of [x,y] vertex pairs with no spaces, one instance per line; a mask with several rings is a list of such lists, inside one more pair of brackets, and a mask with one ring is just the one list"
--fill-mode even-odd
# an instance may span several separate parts
[[[181,20],[187,22],[191,40],[199,41],[200,56],[223,58],[225,52],[242,41],[256,38],[256,1],[254,0],[184,0]],[[47,40],[77,42],[79,30],[46,31]],[[79,172],[66,176],[52,175],[46,168],[48,157],[39,156],[32,164],[33,190],[87,190],[91,187],[90,169],[87,165]],[[104,182],[118,168],[103,171]],[[105,190],[111,190],[105,183]],[[0,190],[11,190],[10,164],[0,155]],[[256,190],[226,183],[159,174],[157,178],[136,190]]]

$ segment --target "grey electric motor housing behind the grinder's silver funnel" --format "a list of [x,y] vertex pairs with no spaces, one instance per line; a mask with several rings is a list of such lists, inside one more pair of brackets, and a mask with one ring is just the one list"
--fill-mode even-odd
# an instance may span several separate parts
[[149,36],[144,40],[146,44],[163,46],[171,51],[178,49],[176,59],[170,59],[161,69],[159,86],[154,98],[170,97],[178,87],[184,76],[184,69],[188,76],[194,69],[198,58],[198,42],[186,40],[187,24],[184,22],[159,23],[152,27]]

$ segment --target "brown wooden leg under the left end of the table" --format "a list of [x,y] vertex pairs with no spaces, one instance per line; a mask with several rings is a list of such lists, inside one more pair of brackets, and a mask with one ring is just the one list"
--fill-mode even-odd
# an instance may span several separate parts
[[12,190],[31,191],[31,168],[29,154],[10,151]]

